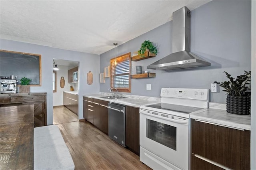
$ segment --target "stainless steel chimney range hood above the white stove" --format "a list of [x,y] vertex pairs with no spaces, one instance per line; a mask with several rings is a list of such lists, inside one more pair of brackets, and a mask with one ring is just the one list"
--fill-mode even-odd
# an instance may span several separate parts
[[211,65],[190,52],[190,10],[184,6],[172,16],[173,53],[148,65],[147,69],[174,70]]

